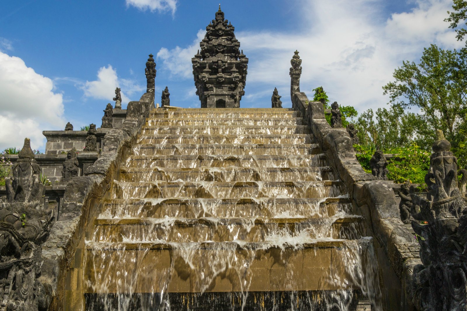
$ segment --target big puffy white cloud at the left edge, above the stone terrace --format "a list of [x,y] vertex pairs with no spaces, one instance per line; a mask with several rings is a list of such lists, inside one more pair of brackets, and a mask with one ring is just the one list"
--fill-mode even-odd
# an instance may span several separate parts
[[42,130],[64,127],[62,94],[53,92],[52,80],[2,52],[0,94],[0,150],[22,147],[25,137],[33,149],[42,149]]

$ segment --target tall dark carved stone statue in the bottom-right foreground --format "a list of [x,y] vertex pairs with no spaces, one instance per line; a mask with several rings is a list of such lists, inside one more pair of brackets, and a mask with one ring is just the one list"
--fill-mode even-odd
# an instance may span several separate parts
[[[419,236],[420,260],[406,280],[407,296],[422,311],[458,311],[467,305],[467,202],[460,194],[457,158],[437,131],[430,157],[429,197],[411,188],[412,228]],[[459,187],[460,186],[460,187]]]

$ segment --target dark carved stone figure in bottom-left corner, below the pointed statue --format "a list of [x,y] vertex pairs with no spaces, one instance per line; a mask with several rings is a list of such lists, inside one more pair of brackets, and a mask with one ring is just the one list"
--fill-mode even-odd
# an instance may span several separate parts
[[0,299],[2,310],[48,310],[52,287],[38,280],[42,242],[49,235],[53,211],[35,204],[0,204]]

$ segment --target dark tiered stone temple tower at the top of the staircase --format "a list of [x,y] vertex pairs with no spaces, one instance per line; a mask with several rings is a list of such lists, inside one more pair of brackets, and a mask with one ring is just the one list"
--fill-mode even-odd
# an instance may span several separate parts
[[219,5],[216,18],[206,27],[205,38],[199,43],[201,52],[198,50],[191,59],[201,108],[240,107],[248,58],[239,50],[234,30]]

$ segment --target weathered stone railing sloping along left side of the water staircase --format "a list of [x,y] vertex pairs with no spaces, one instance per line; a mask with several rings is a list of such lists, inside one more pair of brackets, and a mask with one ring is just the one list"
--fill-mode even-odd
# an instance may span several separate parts
[[107,190],[119,173],[120,163],[130,152],[136,136],[154,108],[154,93],[145,93],[139,101],[128,103],[125,121],[120,128],[108,129],[99,158],[85,168],[84,175],[66,184],[61,203],[61,217],[53,225],[50,236],[42,244],[41,280],[50,283],[53,300],[49,310],[66,310],[64,295],[72,264],[83,260],[86,228],[97,215]]

